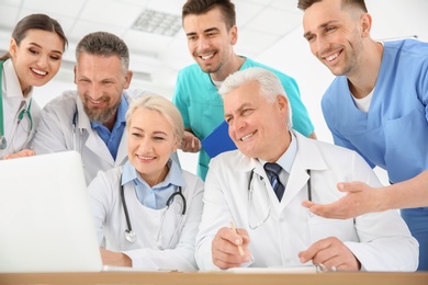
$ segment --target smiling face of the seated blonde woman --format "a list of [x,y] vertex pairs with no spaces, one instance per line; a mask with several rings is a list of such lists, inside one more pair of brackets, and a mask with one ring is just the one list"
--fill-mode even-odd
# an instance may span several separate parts
[[139,107],[132,114],[127,132],[129,162],[150,186],[164,181],[169,157],[179,145],[172,125],[159,112]]

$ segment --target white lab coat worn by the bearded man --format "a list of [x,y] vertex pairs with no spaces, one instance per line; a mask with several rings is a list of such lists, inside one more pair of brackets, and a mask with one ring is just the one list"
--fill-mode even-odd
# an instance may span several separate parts
[[[140,93],[143,94],[143,93]],[[123,95],[131,103],[132,98],[124,92]],[[74,116],[78,110],[77,126],[74,126]],[[75,134],[76,132],[76,134]],[[80,152],[85,168],[87,183],[100,170],[106,171],[122,166],[127,159],[127,135],[123,132],[117,156],[114,160],[109,148],[91,128],[83,103],[77,91],[66,91],[63,95],[47,103],[42,111],[42,118],[33,140],[33,150],[36,155],[77,150]]]

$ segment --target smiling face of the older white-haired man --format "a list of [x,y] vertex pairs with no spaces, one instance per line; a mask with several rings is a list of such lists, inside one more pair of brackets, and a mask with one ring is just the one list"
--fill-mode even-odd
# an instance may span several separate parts
[[288,100],[269,103],[259,83],[249,81],[224,96],[225,121],[238,149],[250,158],[277,161],[289,146]]

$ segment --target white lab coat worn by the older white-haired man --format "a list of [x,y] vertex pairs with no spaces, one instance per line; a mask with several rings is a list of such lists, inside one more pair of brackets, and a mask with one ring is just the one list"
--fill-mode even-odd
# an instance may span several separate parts
[[[343,193],[336,189],[340,181],[381,183],[365,161],[351,150],[308,139],[295,133],[297,153],[281,203],[269,183],[262,164],[243,156],[239,150],[225,152],[211,161],[205,180],[204,210],[196,237],[196,263],[201,270],[213,270],[211,242],[217,230],[233,220],[250,237],[249,250],[255,259],[250,266],[299,266],[299,252],[327,237],[339,238],[367,271],[415,271],[418,243],[397,210],[367,214],[353,219],[326,219],[312,215],[301,203],[307,200],[309,169],[312,200],[331,203]],[[248,206],[248,183],[254,175],[254,201]],[[261,179],[263,181],[261,181]],[[249,228],[249,210],[259,215],[251,225],[270,216],[259,228]]]

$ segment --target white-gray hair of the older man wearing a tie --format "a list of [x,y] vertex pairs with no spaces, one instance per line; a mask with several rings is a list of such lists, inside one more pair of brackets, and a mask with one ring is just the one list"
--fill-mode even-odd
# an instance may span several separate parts
[[286,96],[285,90],[282,87],[280,79],[272,71],[260,67],[254,67],[236,71],[235,73],[226,78],[226,80],[222,83],[218,93],[222,99],[224,99],[235,89],[251,81],[256,81],[259,83],[260,93],[266,98],[269,103],[273,104],[277,100],[277,96],[284,96],[286,99],[286,101],[289,102],[288,126],[291,128],[292,111],[290,100]]

